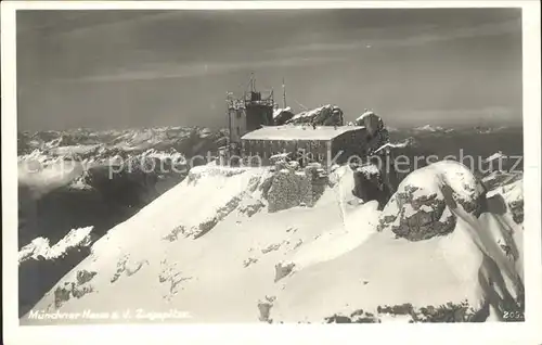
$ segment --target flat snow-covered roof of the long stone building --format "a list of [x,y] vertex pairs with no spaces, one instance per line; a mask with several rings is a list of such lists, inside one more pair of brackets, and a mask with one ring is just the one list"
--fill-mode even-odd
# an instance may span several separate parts
[[363,126],[269,126],[244,135],[243,140],[331,140],[348,131],[364,129]]

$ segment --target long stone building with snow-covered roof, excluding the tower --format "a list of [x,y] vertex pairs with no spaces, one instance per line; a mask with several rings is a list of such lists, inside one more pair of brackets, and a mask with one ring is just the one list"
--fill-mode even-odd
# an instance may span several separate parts
[[[362,126],[270,126],[241,138],[241,155],[269,165],[270,157],[289,153],[301,164],[330,161],[345,163],[350,156],[366,155],[366,130]],[[338,155],[337,159],[334,159]]]

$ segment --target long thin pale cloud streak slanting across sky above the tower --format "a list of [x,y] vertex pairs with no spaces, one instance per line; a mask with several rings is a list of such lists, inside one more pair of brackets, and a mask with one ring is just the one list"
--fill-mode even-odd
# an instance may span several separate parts
[[191,78],[225,74],[236,71],[259,69],[266,67],[302,67],[345,61],[344,58],[288,58],[278,60],[263,60],[254,62],[196,62],[181,65],[173,64],[145,64],[137,71],[126,71],[105,75],[89,76],[80,79],[64,79],[62,81],[79,82],[105,82],[105,81],[131,81],[131,80],[155,80],[171,78]]

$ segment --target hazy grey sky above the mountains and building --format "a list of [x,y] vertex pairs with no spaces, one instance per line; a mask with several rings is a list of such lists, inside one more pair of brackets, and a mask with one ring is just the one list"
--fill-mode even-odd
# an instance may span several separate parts
[[391,126],[521,119],[516,9],[18,11],[21,129],[225,125],[225,92]]

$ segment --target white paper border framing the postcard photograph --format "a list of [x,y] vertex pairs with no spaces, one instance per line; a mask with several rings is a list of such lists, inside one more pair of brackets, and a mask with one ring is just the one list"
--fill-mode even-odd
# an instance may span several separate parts
[[[540,184],[540,2],[528,1],[3,1],[2,44],[2,258],[4,344],[171,343],[490,343],[540,344],[542,255]],[[199,324],[20,327],[17,316],[16,52],[15,10],[231,10],[335,8],[522,8],[525,140],[526,322],[468,324]],[[8,282],[8,283],[7,283]],[[15,283],[13,283],[15,282]]]

